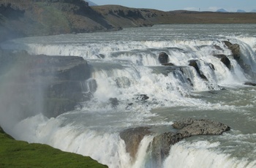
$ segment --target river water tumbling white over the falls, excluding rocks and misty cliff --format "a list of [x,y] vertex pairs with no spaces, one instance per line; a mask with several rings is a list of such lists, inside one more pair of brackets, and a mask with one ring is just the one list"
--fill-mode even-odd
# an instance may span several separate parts
[[[154,135],[143,138],[132,159],[120,131],[157,126],[160,134],[181,118],[209,118],[231,131],[178,142],[162,167],[256,167],[256,90],[244,86],[255,79],[223,41],[238,44],[244,63],[256,72],[255,25],[159,25],[2,43],[4,49],[34,55],[83,57],[91,66],[85,83],[93,97],[57,118],[34,115],[6,129],[18,140],[91,156],[108,167],[152,167],[148,146]],[[161,52],[175,66],[162,66]],[[217,55],[227,56],[231,68]],[[197,62],[207,80],[189,61]],[[143,95],[149,98],[143,100]],[[110,98],[118,99],[118,105],[111,106]]]

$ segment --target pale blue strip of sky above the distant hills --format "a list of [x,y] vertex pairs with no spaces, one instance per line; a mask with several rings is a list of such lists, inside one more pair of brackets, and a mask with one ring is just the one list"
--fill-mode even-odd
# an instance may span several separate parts
[[90,0],[98,5],[118,4],[125,7],[159,9],[163,11],[187,9],[195,11],[216,11],[225,9],[236,12],[243,9],[251,12],[256,9],[256,0]]

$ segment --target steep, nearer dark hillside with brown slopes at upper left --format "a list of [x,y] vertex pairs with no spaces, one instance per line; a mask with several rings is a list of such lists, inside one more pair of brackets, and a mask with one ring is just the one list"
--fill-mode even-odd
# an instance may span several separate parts
[[0,39],[113,28],[83,0],[1,0]]

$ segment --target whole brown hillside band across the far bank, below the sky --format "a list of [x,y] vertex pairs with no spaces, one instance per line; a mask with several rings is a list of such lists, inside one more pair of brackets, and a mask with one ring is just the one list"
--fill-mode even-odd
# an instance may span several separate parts
[[113,31],[170,23],[256,23],[256,13],[163,12],[83,0],[1,0],[0,42],[15,37]]

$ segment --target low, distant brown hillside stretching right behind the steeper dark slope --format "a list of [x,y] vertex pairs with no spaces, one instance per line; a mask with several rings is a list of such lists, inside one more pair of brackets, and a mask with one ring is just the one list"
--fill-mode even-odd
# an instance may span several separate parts
[[255,13],[237,12],[163,12],[156,9],[135,9],[116,5],[92,7],[112,26],[150,26],[172,23],[256,23]]

